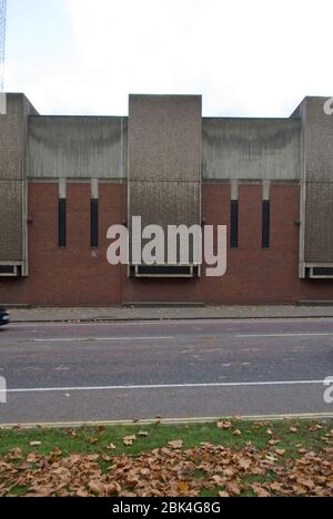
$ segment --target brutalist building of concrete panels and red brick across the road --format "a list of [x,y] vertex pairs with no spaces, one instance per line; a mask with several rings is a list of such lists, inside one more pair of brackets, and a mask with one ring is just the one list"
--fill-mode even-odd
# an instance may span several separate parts
[[[202,118],[195,95],[131,95],[129,116],[43,116],[0,99],[0,303],[333,301],[333,115]],[[107,230],[228,226],[228,272],[110,266]]]

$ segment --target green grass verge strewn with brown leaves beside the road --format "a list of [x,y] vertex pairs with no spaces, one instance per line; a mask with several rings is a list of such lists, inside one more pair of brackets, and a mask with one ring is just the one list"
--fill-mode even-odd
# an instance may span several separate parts
[[333,421],[0,430],[0,496],[332,496]]

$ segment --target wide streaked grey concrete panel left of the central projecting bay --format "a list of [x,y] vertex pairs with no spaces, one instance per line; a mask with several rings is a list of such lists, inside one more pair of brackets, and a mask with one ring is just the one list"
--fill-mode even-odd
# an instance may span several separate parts
[[30,179],[127,176],[124,118],[39,116],[29,120]]

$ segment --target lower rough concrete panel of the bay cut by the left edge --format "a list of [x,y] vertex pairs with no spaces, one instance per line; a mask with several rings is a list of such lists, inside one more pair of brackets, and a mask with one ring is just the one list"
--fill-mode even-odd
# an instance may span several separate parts
[[22,182],[0,182],[0,263],[23,261]]

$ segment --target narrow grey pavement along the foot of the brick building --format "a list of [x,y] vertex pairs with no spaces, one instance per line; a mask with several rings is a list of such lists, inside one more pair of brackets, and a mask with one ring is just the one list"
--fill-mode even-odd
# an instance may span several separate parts
[[205,307],[32,307],[10,308],[14,323],[127,322],[172,319],[243,319],[333,317],[333,305],[205,306]]

